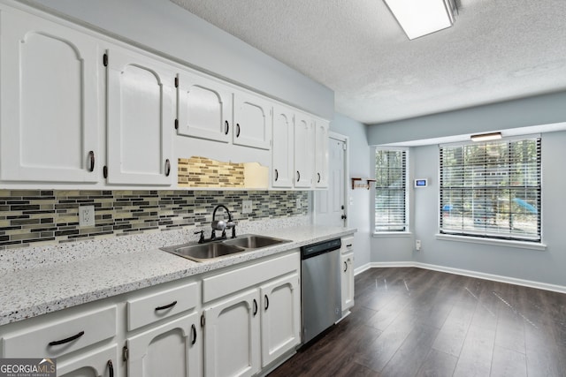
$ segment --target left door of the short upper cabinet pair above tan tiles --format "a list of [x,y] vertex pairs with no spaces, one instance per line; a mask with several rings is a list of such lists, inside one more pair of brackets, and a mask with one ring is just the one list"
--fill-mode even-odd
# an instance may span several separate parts
[[177,119],[180,135],[230,141],[232,90],[212,79],[180,72],[177,87]]

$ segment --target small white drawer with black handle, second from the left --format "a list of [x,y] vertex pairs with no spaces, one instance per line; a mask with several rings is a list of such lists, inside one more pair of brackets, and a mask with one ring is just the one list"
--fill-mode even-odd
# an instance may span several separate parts
[[127,329],[141,328],[156,320],[193,309],[198,300],[197,283],[130,298],[127,300]]

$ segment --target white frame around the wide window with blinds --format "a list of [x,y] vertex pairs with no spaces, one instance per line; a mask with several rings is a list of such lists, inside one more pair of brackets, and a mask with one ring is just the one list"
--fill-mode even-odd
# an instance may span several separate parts
[[[443,215],[444,215],[444,208],[443,208],[443,196],[444,195],[444,186],[443,186],[443,167],[444,167],[444,162],[442,160],[442,148],[446,148],[446,147],[464,147],[464,146],[481,146],[481,145],[486,145],[486,144],[493,144],[493,143],[497,143],[497,142],[505,142],[508,143],[508,145],[510,145],[510,143],[512,142],[518,142],[518,141],[522,141],[522,140],[536,140],[536,147],[537,147],[537,157],[538,160],[536,162],[536,166],[538,168],[538,171],[536,171],[536,175],[538,177],[538,185],[524,185],[524,186],[514,186],[514,185],[510,185],[508,184],[507,186],[502,186],[501,188],[497,188],[497,189],[493,189],[493,187],[484,185],[484,186],[478,186],[478,188],[475,188],[476,191],[481,191],[481,190],[493,190],[495,192],[502,192],[501,196],[503,196],[505,194],[506,190],[509,190],[509,192],[512,192],[515,189],[520,189],[521,187],[524,187],[525,190],[526,189],[531,189],[531,190],[535,190],[536,192],[538,192],[538,197],[537,197],[537,211],[538,213],[537,215],[537,224],[536,224],[536,228],[537,228],[537,234],[536,235],[532,235],[531,234],[521,234],[521,233],[516,233],[513,234],[511,229],[509,230],[509,233],[505,233],[505,232],[501,232],[501,231],[494,231],[494,230],[487,230],[487,227],[485,227],[486,229],[482,232],[482,231],[466,231],[464,229],[464,227],[461,228],[461,231],[456,231],[456,230],[449,230],[449,229],[443,229],[442,227],[442,222],[443,222]],[[495,140],[495,141],[485,141],[485,142],[473,142],[473,141],[466,141],[466,142],[457,142],[457,143],[449,143],[449,144],[441,144],[439,145],[439,205],[438,205],[438,215],[439,215],[439,234],[437,236],[440,237],[440,239],[444,239],[444,238],[468,238],[470,239],[470,242],[480,242],[483,243],[483,241],[486,241],[487,243],[490,242],[503,242],[503,243],[509,243],[509,245],[513,244],[513,245],[517,245],[517,244],[527,244],[527,245],[532,245],[535,248],[537,247],[537,245],[542,245],[543,241],[542,241],[542,235],[543,235],[543,230],[542,230],[542,197],[543,197],[543,190],[542,190],[542,171],[543,171],[543,167],[542,167],[542,137],[540,134],[530,134],[530,135],[521,135],[521,136],[515,136],[515,137],[508,137],[508,138],[503,138],[503,139],[499,139],[499,140]],[[515,161],[517,162],[517,161]],[[509,161],[506,162],[507,163],[507,169],[508,171],[512,170],[512,164],[513,161]],[[485,164],[484,165],[484,171],[489,170],[489,164]],[[464,179],[464,178],[463,178]],[[469,189],[472,192],[472,196],[474,195],[474,189]],[[464,200],[464,199],[463,199]],[[510,211],[510,209],[509,209]],[[500,212],[495,212],[495,215],[499,215]],[[505,214],[505,212],[503,212],[503,214]],[[509,218],[512,219],[512,216],[514,215],[514,212],[509,212]],[[477,240],[477,241],[474,241]],[[482,241],[483,240],[483,241]]]

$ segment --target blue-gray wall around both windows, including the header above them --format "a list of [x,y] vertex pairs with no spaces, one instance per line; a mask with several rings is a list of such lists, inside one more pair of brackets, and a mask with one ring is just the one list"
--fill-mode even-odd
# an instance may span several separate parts
[[[566,121],[566,93],[463,109],[368,128],[369,144],[430,139],[462,133],[485,132]],[[373,238],[372,262],[417,261],[446,268],[508,276],[566,286],[564,232],[566,131],[542,133],[542,231],[545,251],[499,245],[437,240],[439,202],[439,149],[437,145],[410,148],[410,176],[428,177],[429,186],[411,188],[412,237]],[[422,251],[414,250],[414,240]]]

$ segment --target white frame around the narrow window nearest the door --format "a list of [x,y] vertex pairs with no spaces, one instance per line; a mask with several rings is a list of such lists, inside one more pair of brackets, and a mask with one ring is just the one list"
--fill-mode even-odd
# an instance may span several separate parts
[[394,152],[403,152],[405,154],[405,166],[404,166],[404,178],[405,178],[405,187],[404,187],[404,224],[403,230],[377,230],[377,222],[376,222],[376,214],[377,214],[377,193],[378,193],[378,182],[376,181],[375,185],[372,185],[372,207],[371,207],[371,226],[372,226],[372,233],[374,236],[403,236],[410,234],[410,218],[409,218],[409,198],[410,198],[410,175],[409,175],[409,147],[373,147],[371,153],[371,161],[373,167],[373,177],[376,175],[377,165],[376,165],[376,156],[379,151],[394,151]]

